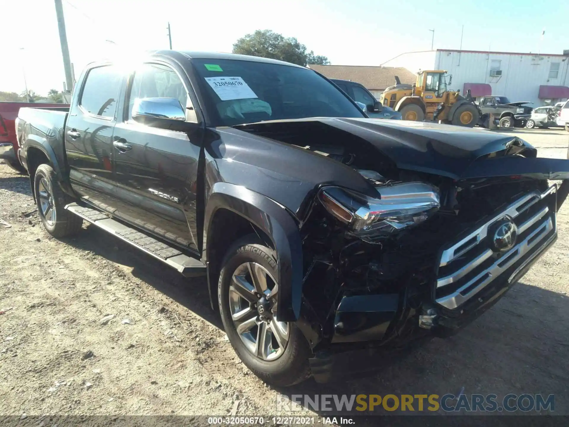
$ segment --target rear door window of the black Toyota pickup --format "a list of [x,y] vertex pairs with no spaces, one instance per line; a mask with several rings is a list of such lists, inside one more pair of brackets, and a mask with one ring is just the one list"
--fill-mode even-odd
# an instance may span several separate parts
[[86,77],[79,105],[95,116],[114,117],[121,80],[122,74],[113,65],[91,69]]

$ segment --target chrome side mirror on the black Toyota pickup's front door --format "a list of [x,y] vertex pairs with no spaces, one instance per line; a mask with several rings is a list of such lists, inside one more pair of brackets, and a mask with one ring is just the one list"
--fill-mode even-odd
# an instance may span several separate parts
[[137,98],[133,120],[154,128],[184,130],[185,112],[176,98]]

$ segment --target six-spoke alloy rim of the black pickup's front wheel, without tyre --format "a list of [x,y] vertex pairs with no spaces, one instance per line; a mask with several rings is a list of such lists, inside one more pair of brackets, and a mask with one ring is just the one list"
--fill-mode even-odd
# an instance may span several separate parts
[[265,267],[245,262],[237,267],[229,285],[229,306],[237,334],[247,350],[262,360],[282,356],[290,327],[278,322],[277,281]]

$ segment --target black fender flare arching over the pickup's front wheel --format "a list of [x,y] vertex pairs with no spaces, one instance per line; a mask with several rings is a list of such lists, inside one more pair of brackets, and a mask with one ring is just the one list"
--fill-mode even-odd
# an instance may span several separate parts
[[[283,322],[298,320],[302,303],[302,241],[298,225],[292,215],[281,204],[262,194],[242,186],[218,182],[213,185],[205,208],[206,243],[211,233],[213,217],[220,208],[244,217],[270,237],[277,252],[279,284],[277,318]],[[212,272],[207,262],[208,255],[209,248],[206,244],[204,261],[208,265],[208,289],[212,297],[213,294],[217,294],[217,286],[211,282]]]

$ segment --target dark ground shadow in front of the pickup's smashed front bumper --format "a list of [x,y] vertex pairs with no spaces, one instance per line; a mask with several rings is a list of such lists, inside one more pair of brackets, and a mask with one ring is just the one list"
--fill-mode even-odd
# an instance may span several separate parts
[[[348,359],[346,366],[357,367],[357,373],[338,371],[329,383],[307,381],[280,391],[288,397],[310,395],[311,399],[314,395],[334,394],[348,398],[361,394],[457,395],[463,387],[468,396],[495,393],[499,399],[508,393],[542,393],[545,397],[555,395],[555,414],[568,414],[568,321],[566,294],[520,282],[492,309],[451,338],[435,338],[414,350],[389,356],[378,352],[366,359],[360,355]],[[354,403],[352,415],[358,413],[354,410],[357,405]],[[417,410],[417,404],[414,407]],[[427,404],[425,413],[436,413],[426,408]],[[375,409],[360,414],[405,414],[387,412],[381,405]],[[316,413],[330,415],[323,410]]]

